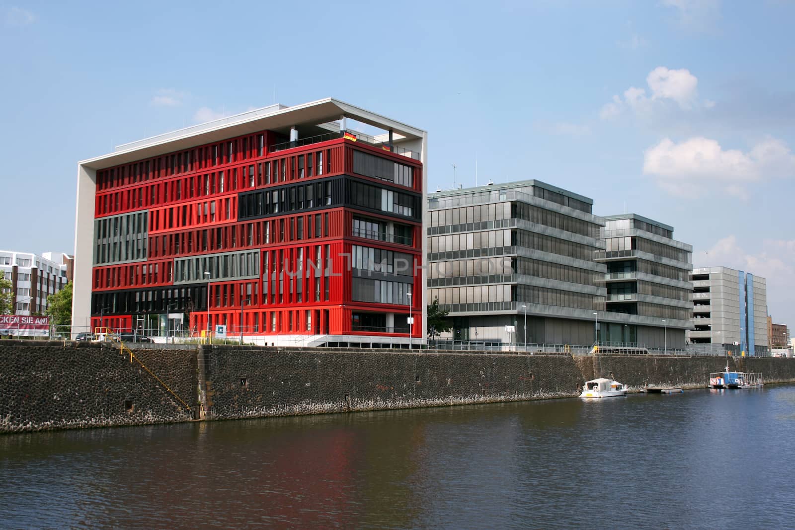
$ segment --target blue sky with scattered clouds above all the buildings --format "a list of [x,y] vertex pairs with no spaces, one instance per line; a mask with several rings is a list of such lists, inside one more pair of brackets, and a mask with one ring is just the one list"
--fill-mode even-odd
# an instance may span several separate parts
[[793,21],[787,0],[0,2],[0,247],[72,252],[79,160],[332,96],[428,130],[431,191],[477,161],[479,184],[657,219],[696,266],[766,277],[793,326]]

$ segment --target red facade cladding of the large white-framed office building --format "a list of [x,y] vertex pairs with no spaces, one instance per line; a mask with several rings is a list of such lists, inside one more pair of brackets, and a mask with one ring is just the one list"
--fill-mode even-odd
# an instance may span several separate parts
[[[174,283],[176,259],[259,250],[256,279],[213,277],[207,282],[200,273],[200,280],[188,285],[195,288],[193,297],[180,307],[192,332],[199,334],[208,325],[223,323],[232,335],[240,331],[245,335],[405,335],[386,329],[382,333],[353,329],[354,312],[403,314],[408,308],[352,299],[351,245],[409,254],[421,265],[419,219],[347,203],[247,219],[240,215],[238,201],[241,192],[277,190],[290,182],[312,184],[342,175],[376,187],[421,193],[421,164],[341,138],[269,153],[268,146],[276,141],[281,141],[276,133],[262,131],[100,171],[95,217],[145,211],[147,245],[146,261],[96,266],[94,294],[128,293],[124,304],[141,299],[151,306],[153,292],[154,298],[162,294],[157,289],[173,287],[167,291],[171,296],[185,290],[184,281]],[[356,175],[354,150],[414,168],[413,185]],[[355,216],[399,221],[410,227],[412,244],[354,235]],[[421,292],[419,269],[412,287],[413,292]],[[131,290],[135,292],[129,294]],[[209,308],[204,307],[207,300]],[[116,309],[124,304],[111,304],[113,314],[100,317],[96,303],[92,324],[99,326],[101,320],[106,327],[134,326],[141,315],[135,311],[118,314]],[[161,313],[171,312],[170,300],[157,304]],[[413,296],[412,304],[415,316],[419,315],[421,296]],[[421,331],[419,320],[415,336]]]

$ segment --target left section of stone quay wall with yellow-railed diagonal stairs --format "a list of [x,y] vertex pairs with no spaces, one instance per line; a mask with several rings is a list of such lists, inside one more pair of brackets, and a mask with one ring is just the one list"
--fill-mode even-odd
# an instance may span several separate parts
[[[162,381],[174,386],[177,395],[192,395],[193,351],[150,350],[141,357]],[[195,404],[196,398],[191,400]],[[192,412],[117,348],[91,342],[3,340],[0,344],[0,432],[191,418]]]

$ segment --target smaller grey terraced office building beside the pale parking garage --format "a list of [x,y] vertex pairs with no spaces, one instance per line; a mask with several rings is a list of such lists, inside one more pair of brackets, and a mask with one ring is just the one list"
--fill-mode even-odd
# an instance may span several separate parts
[[624,315],[600,331],[604,342],[684,348],[692,327],[692,246],[673,239],[673,226],[641,215],[608,215],[605,250],[607,312]]

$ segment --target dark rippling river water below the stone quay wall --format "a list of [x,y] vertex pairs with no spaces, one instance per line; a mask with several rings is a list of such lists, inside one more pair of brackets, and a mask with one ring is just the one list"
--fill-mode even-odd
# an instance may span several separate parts
[[2,528],[785,528],[795,386],[0,436]]

